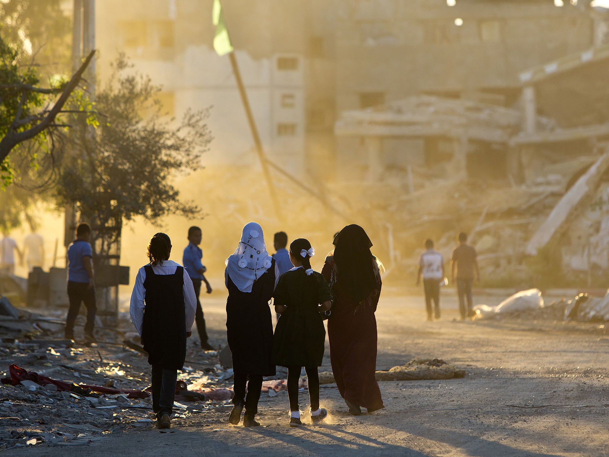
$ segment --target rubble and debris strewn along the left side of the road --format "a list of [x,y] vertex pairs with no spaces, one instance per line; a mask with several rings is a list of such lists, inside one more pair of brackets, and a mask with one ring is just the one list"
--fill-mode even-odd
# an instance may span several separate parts
[[[2,381],[11,382],[15,374],[23,373],[27,373],[27,379],[15,386],[0,384],[0,450],[86,444],[108,433],[155,424],[149,394],[150,366],[143,353],[107,342],[85,346],[71,340],[66,344],[66,340],[23,336],[2,340],[0,366],[6,369],[11,365],[2,373]],[[216,398],[190,392],[187,386],[198,380],[204,389],[227,391],[231,377],[231,370],[227,372],[218,364],[217,353],[200,353],[189,347],[185,369],[178,376],[176,425],[224,423],[232,406],[232,392],[228,398]],[[62,391],[66,385],[69,391]]]

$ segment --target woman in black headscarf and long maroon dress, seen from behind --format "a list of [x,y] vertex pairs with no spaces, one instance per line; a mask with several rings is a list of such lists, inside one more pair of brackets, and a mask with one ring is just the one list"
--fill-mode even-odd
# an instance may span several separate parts
[[359,225],[347,225],[334,238],[322,274],[334,297],[328,319],[330,360],[340,395],[354,416],[384,408],[376,383],[376,317],[382,264]]

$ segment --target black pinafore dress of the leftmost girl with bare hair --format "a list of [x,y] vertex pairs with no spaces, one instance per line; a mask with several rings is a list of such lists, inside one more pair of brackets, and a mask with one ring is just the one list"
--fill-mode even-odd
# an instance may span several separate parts
[[186,360],[186,310],[184,267],[172,275],[157,275],[144,266],[144,322],[142,338],[148,363],[168,370],[181,370]]

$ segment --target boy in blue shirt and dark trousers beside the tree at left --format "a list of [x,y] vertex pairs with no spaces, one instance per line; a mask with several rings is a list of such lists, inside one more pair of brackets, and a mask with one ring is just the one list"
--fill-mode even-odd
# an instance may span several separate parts
[[85,341],[96,342],[93,335],[95,314],[95,276],[93,274],[93,250],[89,240],[91,227],[80,224],[76,229],[76,239],[68,246],[68,298],[70,307],[66,317],[65,336],[74,339],[74,322],[80,311],[80,303],[86,306]]

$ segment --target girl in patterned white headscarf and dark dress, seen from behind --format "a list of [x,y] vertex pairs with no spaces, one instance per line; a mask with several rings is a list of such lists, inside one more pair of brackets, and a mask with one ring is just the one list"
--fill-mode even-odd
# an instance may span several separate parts
[[254,416],[258,413],[262,377],[275,375],[269,301],[279,278],[279,269],[267,252],[259,224],[245,225],[239,246],[227,258],[226,265],[227,338],[234,372],[234,406],[228,422],[238,425],[245,406],[243,425],[256,427],[260,425]]

